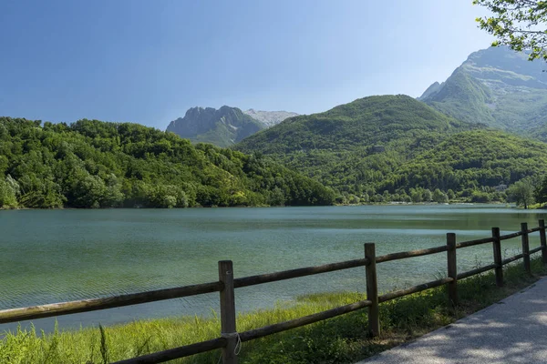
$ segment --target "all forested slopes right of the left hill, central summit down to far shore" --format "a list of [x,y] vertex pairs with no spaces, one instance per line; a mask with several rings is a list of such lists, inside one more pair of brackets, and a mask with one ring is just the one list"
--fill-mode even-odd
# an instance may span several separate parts
[[338,202],[409,201],[417,190],[436,189],[503,200],[495,187],[547,171],[547,144],[459,122],[408,96],[366,97],[293,117],[235,147],[333,187]]

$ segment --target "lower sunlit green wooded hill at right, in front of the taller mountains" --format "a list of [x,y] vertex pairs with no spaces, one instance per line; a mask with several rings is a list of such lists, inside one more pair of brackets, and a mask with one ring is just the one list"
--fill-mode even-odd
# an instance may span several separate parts
[[381,188],[424,187],[491,191],[547,172],[547,144],[501,131],[472,130],[447,137],[390,173]]

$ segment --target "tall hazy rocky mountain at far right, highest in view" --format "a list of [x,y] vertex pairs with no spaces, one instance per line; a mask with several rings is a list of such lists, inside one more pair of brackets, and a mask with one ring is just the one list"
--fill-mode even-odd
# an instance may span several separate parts
[[530,62],[523,53],[490,47],[472,53],[418,99],[463,121],[537,137],[547,125],[545,69],[545,63]]

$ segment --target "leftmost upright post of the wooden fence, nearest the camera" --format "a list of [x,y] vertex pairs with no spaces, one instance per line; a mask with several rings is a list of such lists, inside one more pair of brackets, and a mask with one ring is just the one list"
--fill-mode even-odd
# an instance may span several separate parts
[[219,280],[224,284],[221,290],[221,336],[228,343],[222,348],[222,363],[237,364],[235,349],[238,336],[235,329],[235,295],[233,289],[232,260],[219,261]]

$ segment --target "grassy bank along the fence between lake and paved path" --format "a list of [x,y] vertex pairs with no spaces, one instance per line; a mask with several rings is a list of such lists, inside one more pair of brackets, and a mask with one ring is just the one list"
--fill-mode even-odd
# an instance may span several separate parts
[[[242,363],[353,363],[408,339],[453,322],[489,306],[537,280],[547,269],[532,260],[534,275],[527,277],[521,264],[505,268],[504,288],[496,288],[492,274],[459,282],[460,306],[450,312],[446,288],[436,288],[380,305],[382,336],[366,339],[366,309],[300,329],[243,343]],[[363,299],[358,293],[303,296],[291,305],[238,317],[240,331],[295,319],[327,308]],[[0,363],[105,363],[170,349],[219,335],[220,322],[199,317],[138,321],[103,329],[80,329],[45,335],[34,330],[7,333],[0,340]],[[220,351],[178,363],[216,364]]]

